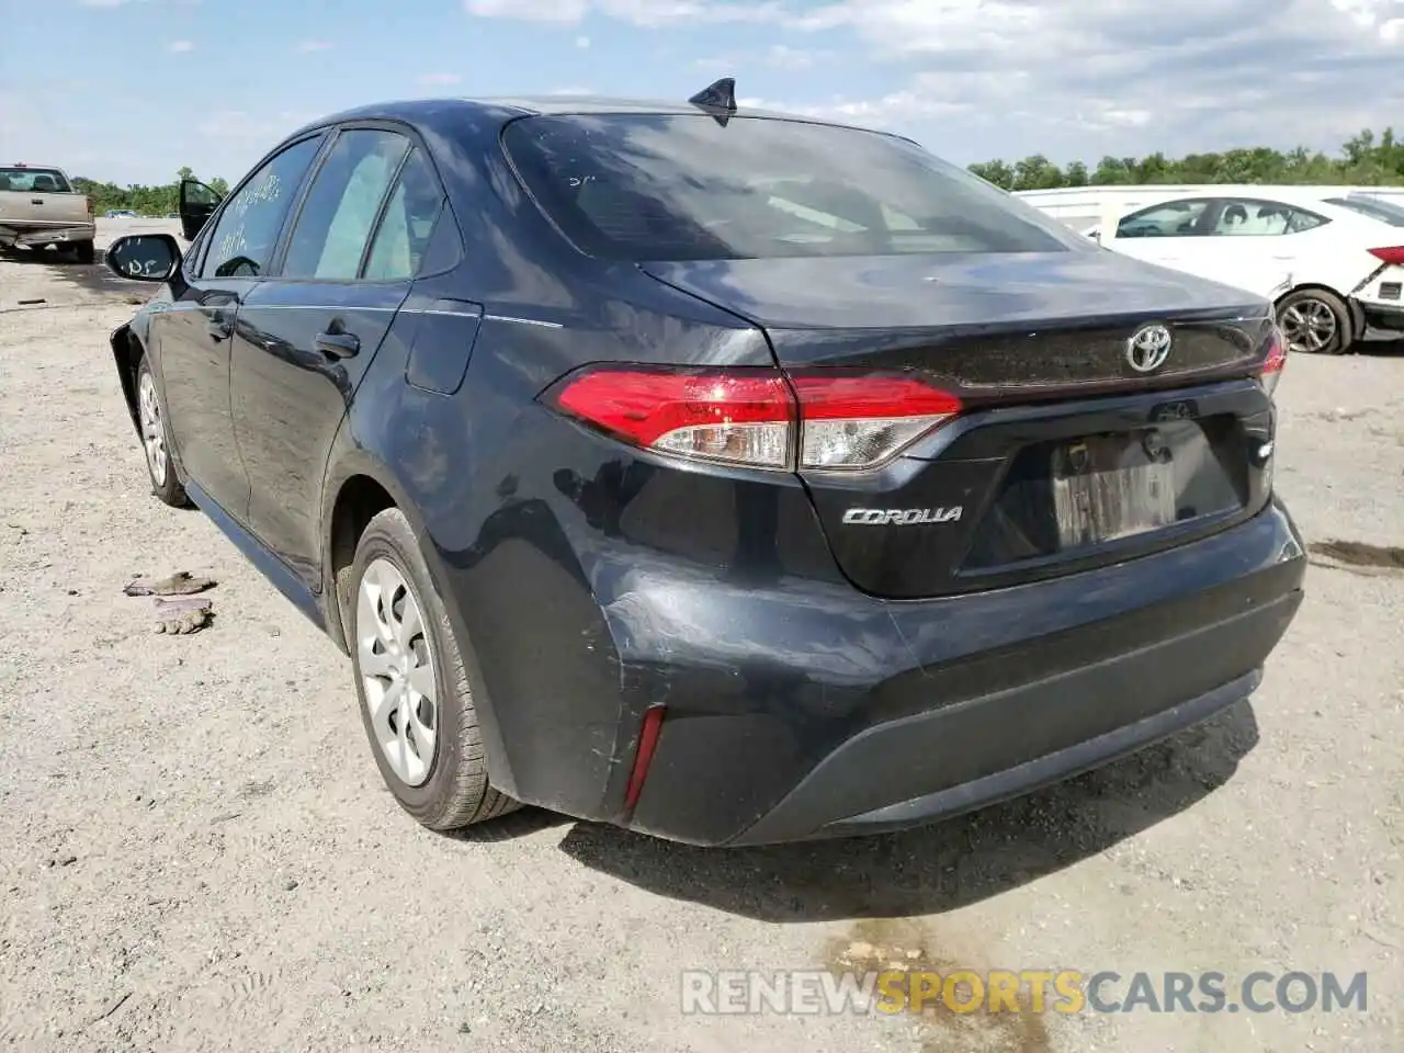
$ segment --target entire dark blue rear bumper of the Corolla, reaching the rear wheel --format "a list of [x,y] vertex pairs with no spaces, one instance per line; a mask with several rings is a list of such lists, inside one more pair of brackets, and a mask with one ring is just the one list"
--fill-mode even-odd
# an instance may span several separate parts
[[[491,614],[469,632],[494,782],[705,845],[927,823],[1196,723],[1257,687],[1306,564],[1276,501],[1167,552],[929,601],[729,581],[637,546],[597,548],[585,591],[553,548],[549,607],[519,563],[458,597],[455,615]],[[665,717],[629,812],[650,706]]]

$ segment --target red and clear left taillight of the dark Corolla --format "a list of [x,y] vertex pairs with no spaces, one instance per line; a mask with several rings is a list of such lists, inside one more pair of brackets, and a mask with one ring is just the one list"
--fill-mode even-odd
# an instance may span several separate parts
[[636,446],[779,470],[875,468],[960,411],[911,376],[767,368],[588,368],[546,400]]

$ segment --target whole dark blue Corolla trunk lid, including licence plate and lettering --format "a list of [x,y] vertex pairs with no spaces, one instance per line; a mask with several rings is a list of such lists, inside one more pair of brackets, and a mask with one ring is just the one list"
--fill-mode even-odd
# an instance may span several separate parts
[[[765,329],[790,375],[903,371],[965,411],[866,472],[803,470],[863,591],[1014,585],[1206,536],[1271,493],[1266,300],[1109,251],[644,264]],[[1132,338],[1164,326],[1164,362]],[[1141,359],[1144,365],[1144,359]]]

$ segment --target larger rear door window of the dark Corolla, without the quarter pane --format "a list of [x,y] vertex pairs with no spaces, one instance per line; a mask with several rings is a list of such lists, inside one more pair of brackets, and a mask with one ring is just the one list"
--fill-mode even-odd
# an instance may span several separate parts
[[354,281],[385,192],[410,142],[376,129],[343,132],[312,180],[282,263],[284,278]]

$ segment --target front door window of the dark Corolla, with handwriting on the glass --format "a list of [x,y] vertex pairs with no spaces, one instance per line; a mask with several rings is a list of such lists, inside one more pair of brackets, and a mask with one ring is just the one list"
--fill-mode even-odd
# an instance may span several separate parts
[[257,278],[268,270],[288,209],[320,146],[320,138],[293,143],[225,202],[209,236],[205,278]]

